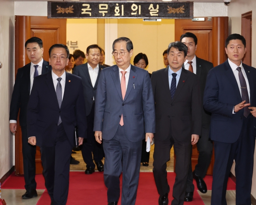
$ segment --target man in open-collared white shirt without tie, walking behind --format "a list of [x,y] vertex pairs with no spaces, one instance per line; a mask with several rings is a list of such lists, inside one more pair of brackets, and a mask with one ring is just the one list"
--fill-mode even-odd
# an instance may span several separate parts
[[[94,172],[96,163],[98,171],[104,171],[104,165],[102,159],[104,157],[104,151],[101,144],[97,143],[94,137],[93,123],[94,123],[94,102],[97,90],[97,84],[100,76],[100,71],[105,68],[100,65],[100,53],[101,48],[94,44],[90,45],[86,49],[87,63],[74,68],[74,75],[82,78],[84,87],[84,100],[86,105],[86,117],[87,117],[87,140],[83,142],[81,146],[82,156],[86,163],[86,174],[92,174]],[[93,154],[93,159],[92,159]]]

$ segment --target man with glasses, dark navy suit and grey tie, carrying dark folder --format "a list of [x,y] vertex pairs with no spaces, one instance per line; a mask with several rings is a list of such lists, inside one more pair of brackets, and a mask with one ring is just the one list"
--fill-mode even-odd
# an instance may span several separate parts
[[86,111],[81,78],[65,72],[68,47],[54,44],[49,56],[52,72],[34,79],[28,101],[28,142],[40,147],[51,205],[65,205],[74,128],[78,127],[81,145],[86,138]]

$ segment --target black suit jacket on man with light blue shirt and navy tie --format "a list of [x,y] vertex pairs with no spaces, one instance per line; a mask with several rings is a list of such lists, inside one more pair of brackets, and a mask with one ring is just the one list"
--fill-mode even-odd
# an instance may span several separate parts
[[164,140],[172,136],[177,141],[191,141],[191,135],[201,135],[202,102],[198,76],[182,68],[174,98],[170,93],[168,69],[152,73],[151,82],[156,103],[155,138]]

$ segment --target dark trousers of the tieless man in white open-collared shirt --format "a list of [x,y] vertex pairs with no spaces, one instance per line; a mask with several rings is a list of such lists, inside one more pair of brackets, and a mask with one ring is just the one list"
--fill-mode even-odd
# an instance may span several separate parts
[[[101,161],[104,157],[104,151],[102,144],[99,144],[94,136],[93,125],[94,125],[94,107],[95,104],[93,102],[92,109],[87,118],[87,139],[83,141],[83,145],[81,146],[82,156],[84,162],[86,163],[86,167],[95,168],[94,161]],[[93,159],[92,159],[93,154]]]

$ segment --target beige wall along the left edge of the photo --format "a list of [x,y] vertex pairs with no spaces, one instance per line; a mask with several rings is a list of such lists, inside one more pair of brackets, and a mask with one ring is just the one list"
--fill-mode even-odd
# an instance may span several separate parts
[[0,178],[14,165],[14,135],[9,129],[14,83],[14,2],[0,0]]

